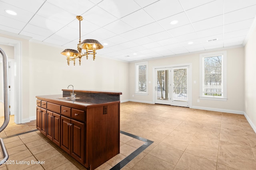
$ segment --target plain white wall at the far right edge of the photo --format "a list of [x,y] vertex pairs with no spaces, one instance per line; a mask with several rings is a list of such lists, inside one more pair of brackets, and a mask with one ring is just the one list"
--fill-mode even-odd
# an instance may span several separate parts
[[256,132],[256,26],[246,43],[245,49],[245,116]]

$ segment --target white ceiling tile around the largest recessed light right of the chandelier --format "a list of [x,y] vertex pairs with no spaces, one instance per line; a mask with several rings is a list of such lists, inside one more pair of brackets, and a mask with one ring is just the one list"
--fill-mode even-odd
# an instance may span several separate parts
[[[178,23],[176,23],[175,25],[170,24],[171,21],[177,20]],[[180,27],[182,25],[187,25],[190,23],[190,21],[188,20],[188,17],[186,15],[185,12],[181,12],[179,14],[170,16],[168,18],[164,18],[162,20],[159,20],[158,23],[160,25],[162,25],[162,27],[164,27],[164,29],[168,30],[168,29],[172,29],[172,28],[176,28],[176,27]]]

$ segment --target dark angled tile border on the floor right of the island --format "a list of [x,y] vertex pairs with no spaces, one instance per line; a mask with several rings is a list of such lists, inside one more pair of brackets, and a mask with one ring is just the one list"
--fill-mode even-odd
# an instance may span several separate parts
[[149,147],[153,141],[150,141],[148,139],[145,139],[143,137],[139,137],[136,135],[132,135],[130,133],[124,132],[124,131],[120,131],[120,133],[133,137],[135,139],[138,139],[140,141],[144,141],[145,143],[139,147],[138,149],[136,149],[134,152],[132,152],[130,155],[128,155],[126,158],[124,158],[121,162],[119,162],[118,164],[116,164],[115,166],[113,166],[110,170],[120,170],[122,169],[124,166],[126,166],[126,164],[128,164],[131,160],[133,160],[136,156],[138,156],[138,154],[140,154],[143,150],[145,150],[147,147]]

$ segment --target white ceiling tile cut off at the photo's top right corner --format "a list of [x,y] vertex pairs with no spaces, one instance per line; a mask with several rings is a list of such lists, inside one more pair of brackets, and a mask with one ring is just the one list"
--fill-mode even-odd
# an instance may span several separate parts
[[246,8],[248,6],[256,5],[255,0],[224,0],[224,14],[239,10],[241,8]]

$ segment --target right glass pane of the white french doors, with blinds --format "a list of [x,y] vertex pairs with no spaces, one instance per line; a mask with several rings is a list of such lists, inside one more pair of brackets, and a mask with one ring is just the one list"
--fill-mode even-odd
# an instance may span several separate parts
[[173,69],[173,99],[187,100],[187,68]]

